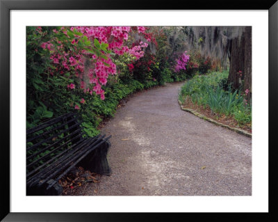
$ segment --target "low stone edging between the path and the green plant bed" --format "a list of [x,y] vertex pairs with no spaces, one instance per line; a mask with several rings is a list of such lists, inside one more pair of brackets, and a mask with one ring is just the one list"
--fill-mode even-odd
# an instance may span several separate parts
[[187,112],[192,113],[193,115],[195,115],[195,116],[197,116],[197,117],[199,117],[199,118],[202,118],[203,120],[206,120],[206,121],[208,121],[208,122],[211,122],[211,123],[213,123],[213,124],[215,124],[215,125],[218,125],[218,126],[220,126],[220,127],[225,127],[225,128],[230,129],[230,130],[232,130],[232,131],[234,131],[234,132],[237,132],[238,134],[242,134],[242,135],[244,135],[244,136],[247,136],[247,137],[249,137],[249,138],[252,138],[252,134],[250,134],[249,132],[246,132],[246,131],[243,130],[243,129],[237,129],[237,128],[234,128],[234,127],[230,127],[230,126],[228,126],[228,125],[224,125],[224,124],[222,124],[222,123],[220,123],[220,122],[217,122],[217,121],[215,121],[215,120],[213,120],[213,119],[211,119],[211,118],[208,118],[208,117],[202,115],[201,113],[198,113],[197,111],[195,111],[195,110],[193,110],[193,109],[185,108],[185,107],[183,106],[181,100],[179,100],[179,99],[178,99],[178,102],[179,102],[179,105],[181,106],[181,109],[182,109],[183,111],[187,111]]

